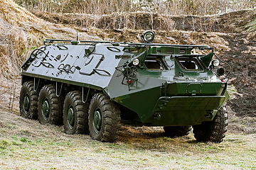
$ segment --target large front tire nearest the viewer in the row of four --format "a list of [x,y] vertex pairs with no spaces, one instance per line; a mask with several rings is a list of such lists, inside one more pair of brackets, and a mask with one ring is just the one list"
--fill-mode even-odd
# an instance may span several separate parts
[[[98,117],[100,118],[97,119]],[[115,142],[121,127],[120,120],[119,106],[110,101],[108,96],[99,93],[92,97],[89,106],[89,132],[92,140]],[[98,126],[95,125],[97,123]]]

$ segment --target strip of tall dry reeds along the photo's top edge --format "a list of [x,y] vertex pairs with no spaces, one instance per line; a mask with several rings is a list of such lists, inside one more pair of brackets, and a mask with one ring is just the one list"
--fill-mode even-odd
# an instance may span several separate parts
[[256,2],[228,0],[14,0],[17,4],[33,11],[55,13],[87,13],[103,15],[111,13],[127,13],[146,11],[164,15],[213,15],[245,8],[255,8]]

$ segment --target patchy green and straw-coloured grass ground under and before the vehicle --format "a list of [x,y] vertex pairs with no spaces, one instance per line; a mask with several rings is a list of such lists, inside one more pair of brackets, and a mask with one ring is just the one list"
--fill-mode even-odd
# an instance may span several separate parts
[[221,143],[203,143],[192,132],[169,138],[161,128],[122,126],[117,142],[104,143],[13,113],[0,116],[0,169],[256,169],[255,134],[228,132]]

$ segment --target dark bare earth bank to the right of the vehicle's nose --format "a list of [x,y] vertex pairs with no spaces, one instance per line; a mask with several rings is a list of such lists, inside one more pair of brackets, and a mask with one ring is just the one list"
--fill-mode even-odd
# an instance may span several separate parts
[[248,40],[247,35],[242,33],[233,36],[233,39],[223,37],[232,49],[223,55],[233,67],[230,84],[238,91],[228,105],[239,116],[256,117],[256,41]]

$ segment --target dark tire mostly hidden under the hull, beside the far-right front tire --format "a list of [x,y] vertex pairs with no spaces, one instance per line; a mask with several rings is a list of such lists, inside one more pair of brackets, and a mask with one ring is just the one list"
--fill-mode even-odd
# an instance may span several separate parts
[[191,126],[164,126],[164,131],[168,137],[181,137],[189,134]]

